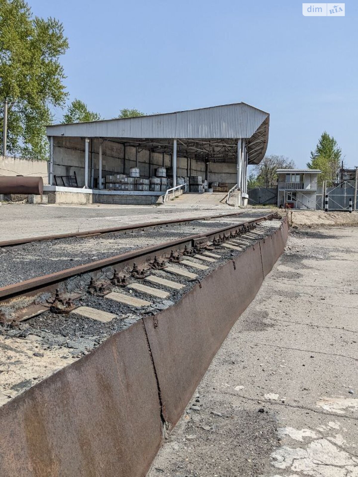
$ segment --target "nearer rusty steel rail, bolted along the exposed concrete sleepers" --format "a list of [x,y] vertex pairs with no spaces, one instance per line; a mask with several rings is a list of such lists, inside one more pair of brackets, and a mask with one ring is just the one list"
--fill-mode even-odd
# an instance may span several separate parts
[[200,240],[211,239],[213,237],[219,236],[221,233],[228,232],[233,229],[244,228],[247,225],[253,223],[260,223],[263,220],[269,220],[274,218],[276,214],[267,214],[265,216],[254,218],[245,222],[239,222],[237,224],[232,224],[230,226],[221,227],[217,229],[212,229],[207,232],[202,232],[200,234],[191,235],[189,237],[184,237],[181,239],[170,240],[168,242],[162,242],[158,245],[153,245],[143,249],[133,250],[131,252],[126,252],[120,255],[115,255],[106,259],[96,260],[94,262],[85,263],[83,265],[78,265],[66,270],[61,270],[59,272],[51,273],[49,275],[43,275],[41,277],[36,277],[30,280],[24,280],[18,283],[13,283],[5,287],[0,288],[0,301],[7,299],[12,299],[22,294],[31,293],[34,290],[46,289],[57,285],[59,282],[62,282],[66,279],[73,278],[77,275],[82,275],[87,272],[95,272],[106,267],[114,267],[119,264],[130,264],[134,260],[140,261],[143,263],[148,258],[154,257],[155,255],[164,254],[174,248],[182,248],[187,245],[190,247]]

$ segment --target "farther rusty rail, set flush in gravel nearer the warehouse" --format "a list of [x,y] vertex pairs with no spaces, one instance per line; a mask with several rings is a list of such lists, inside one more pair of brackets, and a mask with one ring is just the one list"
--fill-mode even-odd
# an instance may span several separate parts
[[137,228],[149,228],[149,227],[157,227],[159,225],[170,225],[170,224],[179,224],[183,222],[193,222],[195,220],[210,220],[211,218],[221,218],[221,217],[230,217],[233,215],[240,215],[242,211],[238,212],[230,212],[229,214],[215,214],[215,215],[203,215],[198,217],[192,218],[176,218],[173,220],[158,220],[158,222],[144,222],[144,223],[135,223],[130,225],[122,225],[120,227],[110,227],[110,228],[97,228],[94,230],[84,230],[82,232],[70,232],[67,234],[58,234],[58,235],[42,235],[39,237],[29,237],[26,239],[13,239],[13,240],[3,240],[0,241],[0,248],[1,247],[12,247],[15,245],[23,245],[25,243],[31,242],[40,242],[43,240],[57,240],[57,239],[69,239],[71,237],[86,237],[89,235],[100,235],[100,234],[108,234],[112,232],[124,232],[126,230],[136,230]]

